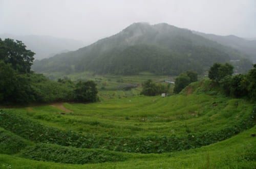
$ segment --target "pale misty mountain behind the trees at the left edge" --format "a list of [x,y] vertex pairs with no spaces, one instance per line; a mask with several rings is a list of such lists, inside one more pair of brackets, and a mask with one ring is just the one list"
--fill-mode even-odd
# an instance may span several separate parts
[[11,34],[2,34],[0,35],[0,38],[10,38],[22,41],[27,46],[27,49],[30,49],[36,53],[34,58],[38,60],[53,57],[58,53],[77,50],[78,48],[84,46],[83,42],[77,40],[61,39],[51,36],[17,36]]

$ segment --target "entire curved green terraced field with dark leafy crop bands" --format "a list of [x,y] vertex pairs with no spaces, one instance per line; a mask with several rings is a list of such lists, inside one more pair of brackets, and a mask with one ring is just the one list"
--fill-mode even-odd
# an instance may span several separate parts
[[2,109],[0,167],[255,168],[255,105],[201,83],[165,98]]

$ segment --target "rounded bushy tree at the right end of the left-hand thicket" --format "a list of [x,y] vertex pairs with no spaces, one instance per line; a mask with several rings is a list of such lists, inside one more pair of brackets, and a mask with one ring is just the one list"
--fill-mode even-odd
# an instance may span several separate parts
[[74,98],[76,101],[81,102],[95,102],[98,100],[96,83],[92,80],[82,82],[79,81],[76,84],[74,90]]

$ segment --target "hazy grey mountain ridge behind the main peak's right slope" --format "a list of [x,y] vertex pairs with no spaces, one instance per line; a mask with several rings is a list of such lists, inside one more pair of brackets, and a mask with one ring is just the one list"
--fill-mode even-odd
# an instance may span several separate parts
[[234,35],[219,36],[214,34],[204,34],[196,31],[193,31],[193,33],[244,52],[247,54],[248,59],[256,63],[256,39],[249,40]]

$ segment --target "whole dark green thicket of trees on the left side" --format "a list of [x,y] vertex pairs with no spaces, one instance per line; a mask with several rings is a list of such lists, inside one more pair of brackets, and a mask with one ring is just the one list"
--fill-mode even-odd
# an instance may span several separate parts
[[0,104],[98,100],[94,81],[51,81],[31,71],[34,52],[22,41],[0,39]]

